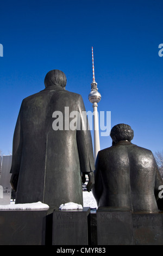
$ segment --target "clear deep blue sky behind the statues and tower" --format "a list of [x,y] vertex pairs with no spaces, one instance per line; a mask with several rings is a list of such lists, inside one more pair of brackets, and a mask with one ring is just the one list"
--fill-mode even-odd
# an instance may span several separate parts
[[[163,149],[162,0],[28,0],[0,3],[0,149],[12,153],[22,100],[44,89],[49,70],[60,69],[67,90],[82,95],[86,111],[95,78],[111,111],[111,127],[129,124],[133,143]],[[111,146],[100,137],[101,149]]]

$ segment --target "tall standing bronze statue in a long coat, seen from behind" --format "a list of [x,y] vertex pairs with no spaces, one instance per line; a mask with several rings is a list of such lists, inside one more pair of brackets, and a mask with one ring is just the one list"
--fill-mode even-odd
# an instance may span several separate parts
[[[83,117],[83,99],[65,86],[62,71],[49,71],[46,88],[22,101],[13,138],[10,181],[16,204],[41,201],[54,209],[68,202],[83,205],[82,175],[83,180],[85,174],[89,176],[88,191],[94,184],[92,139]],[[76,127],[81,125],[81,129],[70,127],[69,113],[73,111],[78,113]],[[57,119],[59,113],[61,119]],[[54,120],[63,122],[58,123],[58,129]]]

